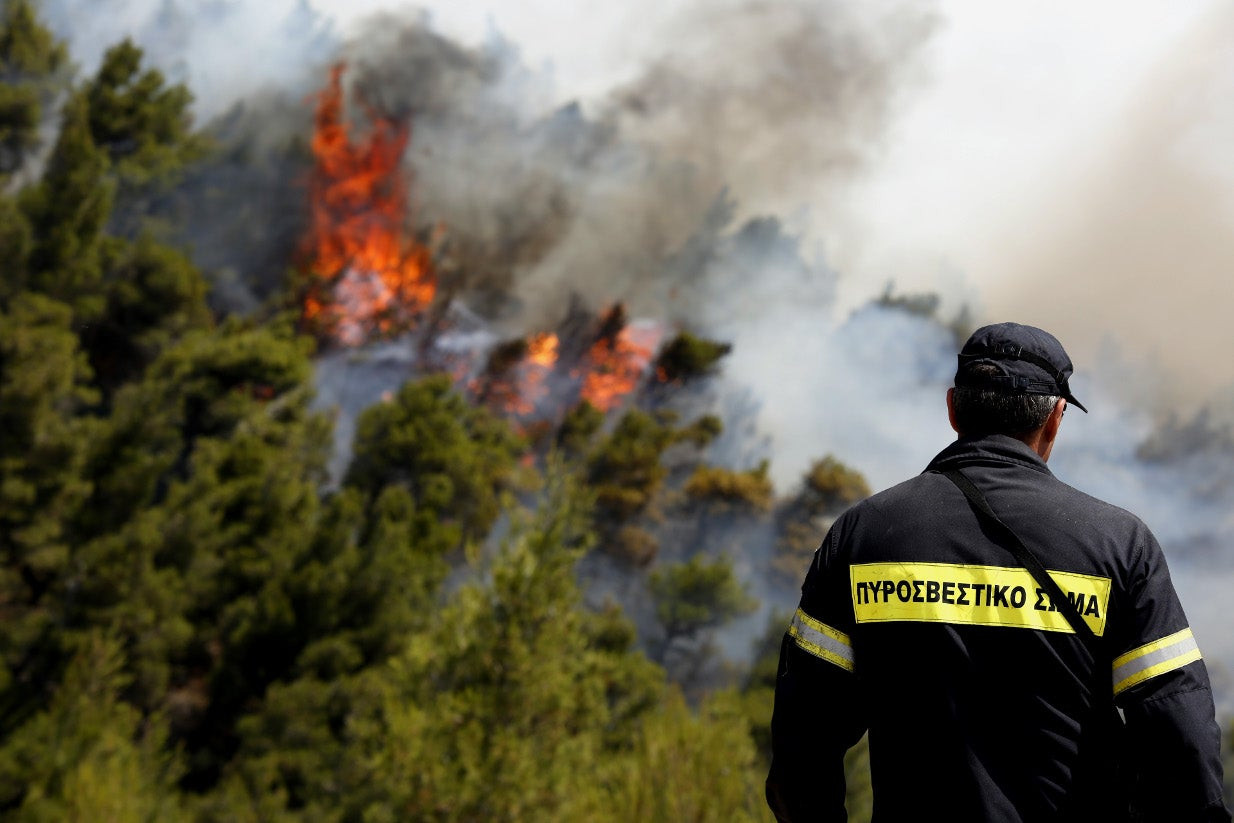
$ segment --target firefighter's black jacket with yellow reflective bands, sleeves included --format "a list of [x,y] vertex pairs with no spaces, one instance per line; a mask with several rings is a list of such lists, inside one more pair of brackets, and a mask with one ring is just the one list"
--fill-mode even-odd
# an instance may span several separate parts
[[929,468],[986,495],[1096,654],[948,479],[870,497],[814,554],[781,647],[776,817],[845,819],[843,755],[869,730],[876,822],[1116,821],[1129,793],[1148,819],[1228,821],[1208,672],[1148,527],[1008,437]]

